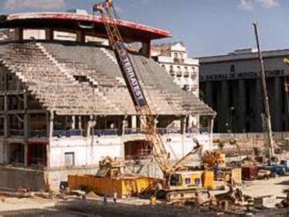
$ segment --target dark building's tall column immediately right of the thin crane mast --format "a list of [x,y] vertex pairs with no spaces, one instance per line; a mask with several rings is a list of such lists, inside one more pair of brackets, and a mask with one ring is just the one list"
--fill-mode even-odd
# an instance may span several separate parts
[[272,130],[282,130],[282,89],[281,77],[274,77],[274,106],[270,108],[272,114]]

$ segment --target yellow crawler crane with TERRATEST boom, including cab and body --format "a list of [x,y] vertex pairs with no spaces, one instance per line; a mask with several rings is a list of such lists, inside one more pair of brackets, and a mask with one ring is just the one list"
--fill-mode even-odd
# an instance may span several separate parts
[[124,45],[124,40],[118,29],[118,22],[112,0],[106,0],[101,3],[96,3],[93,6],[93,11],[101,14],[103,24],[108,33],[108,40],[115,57],[121,69],[121,73],[128,87],[128,91],[133,100],[135,110],[141,119],[141,125],[144,130],[147,142],[152,147],[152,154],[158,163],[158,166],[163,172],[164,181],[162,184],[162,191],[167,200],[180,200],[191,197],[198,190],[202,190],[202,172],[201,171],[186,171],[184,161],[189,156],[200,149],[197,145],[191,153],[179,160],[175,165],[170,165],[168,159],[168,152],[161,139],[161,135],[155,127],[155,117],[147,103],[147,100],[142,91],[140,81],[135,73],[131,57],[128,55],[128,50]]

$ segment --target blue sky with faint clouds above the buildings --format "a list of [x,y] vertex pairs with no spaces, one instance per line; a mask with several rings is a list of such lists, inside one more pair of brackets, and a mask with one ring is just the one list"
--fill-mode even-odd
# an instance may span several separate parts
[[[93,0],[0,0],[0,13],[91,12]],[[289,48],[289,0],[114,0],[119,17],[168,30],[191,57],[227,54],[255,47],[252,22],[258,22],[262,50]]]

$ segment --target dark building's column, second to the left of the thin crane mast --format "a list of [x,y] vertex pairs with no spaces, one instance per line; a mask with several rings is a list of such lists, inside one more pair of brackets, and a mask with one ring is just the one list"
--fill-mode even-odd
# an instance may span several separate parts
[[238,112],[238,122],[239,122],[239,132],[243,132],[246,130],[246,89],[245,89],[245,81],[239,80],[238,84],[239,90],[239,104],[237,107]]

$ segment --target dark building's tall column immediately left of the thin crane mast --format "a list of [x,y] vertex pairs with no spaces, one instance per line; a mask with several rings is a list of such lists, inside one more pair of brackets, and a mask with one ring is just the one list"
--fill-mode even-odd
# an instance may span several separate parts
[[260,79],[255,80],[255,132],[262,132],[262,87]]

